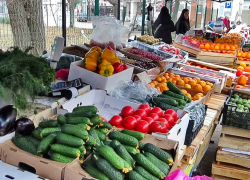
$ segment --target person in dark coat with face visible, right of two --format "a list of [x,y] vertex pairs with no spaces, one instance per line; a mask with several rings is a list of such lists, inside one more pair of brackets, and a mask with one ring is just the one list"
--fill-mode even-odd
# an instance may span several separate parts
[[190,30],[189,10],[183,9],[181,16],[175,24],[176,34],[186,34]]

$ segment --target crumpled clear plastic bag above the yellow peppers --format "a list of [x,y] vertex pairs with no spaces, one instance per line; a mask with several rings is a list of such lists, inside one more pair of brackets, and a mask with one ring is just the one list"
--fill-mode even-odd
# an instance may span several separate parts
[[90,44],[100,47],[122,48],[123,36],[128,33],[128,28],[119,24],[113,17],[91,17],[94,29],[90,36]]

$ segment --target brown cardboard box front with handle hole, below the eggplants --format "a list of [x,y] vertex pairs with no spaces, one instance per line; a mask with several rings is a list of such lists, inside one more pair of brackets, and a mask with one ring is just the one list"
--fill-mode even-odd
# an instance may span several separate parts
[[0,159],[23,170],[31,170],[41,178],[62,180],[67,164],[32,155],[16,147],[11,140],[0,145]]

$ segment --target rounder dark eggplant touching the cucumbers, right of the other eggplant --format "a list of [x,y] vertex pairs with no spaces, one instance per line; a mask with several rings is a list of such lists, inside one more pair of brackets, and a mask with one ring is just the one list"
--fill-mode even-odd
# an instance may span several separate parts
[[31,133],[35,130],[35,125],[33,121],[28,118],[20,118],[15,121],[14,129],[17,134],[21,135],[31,135]]

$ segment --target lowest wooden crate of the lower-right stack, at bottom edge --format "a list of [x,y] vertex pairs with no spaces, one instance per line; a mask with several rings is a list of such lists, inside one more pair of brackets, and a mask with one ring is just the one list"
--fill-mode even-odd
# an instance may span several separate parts
[[218,175],[227,178],[250,180],[249,169],[238,166],[232,166],[224,163],[221,163],[220,165],[214,163],[212,165],[212,174],[213,176]]

